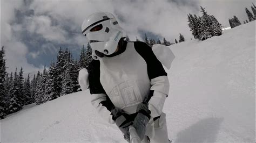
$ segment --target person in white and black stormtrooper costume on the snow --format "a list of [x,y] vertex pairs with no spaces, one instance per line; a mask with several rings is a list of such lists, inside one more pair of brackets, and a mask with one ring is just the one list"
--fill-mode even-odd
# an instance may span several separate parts
[[[162,111],[169,80],[152,48],[126,41],[117,19],[108,12],[87,17],[82,33],[92,48],[87,82],[99,115],[116,124],[127,141],[133,126],[142,142],[169,142]],[[80,73],[79,83],[84,78]]]

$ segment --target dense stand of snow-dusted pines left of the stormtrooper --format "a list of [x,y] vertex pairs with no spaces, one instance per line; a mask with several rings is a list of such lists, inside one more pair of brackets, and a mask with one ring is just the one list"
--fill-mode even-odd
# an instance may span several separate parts
[[24,105],[37,105],[51,101],[60,96],[80,91],[78,72],[87,68],[91,62],[91,48],[83,46],[79,60],[74,60],[72,53],[66,48],[59,49],[56,62],[52,61],[49,69],[37,74],[23,77],[23,68],[17,68],[11,74],[6,73],[5,51],[0,51],[0,119],[10,113],[17,112]]

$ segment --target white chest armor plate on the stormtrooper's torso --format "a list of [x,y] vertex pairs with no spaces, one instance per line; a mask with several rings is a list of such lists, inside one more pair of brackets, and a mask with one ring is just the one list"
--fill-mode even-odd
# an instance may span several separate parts
[[127,43],[125,52],[100,60],[100,83],[114,106],[136,112],[137,105],[149,95],[150,80],[147,64],[133,42]]

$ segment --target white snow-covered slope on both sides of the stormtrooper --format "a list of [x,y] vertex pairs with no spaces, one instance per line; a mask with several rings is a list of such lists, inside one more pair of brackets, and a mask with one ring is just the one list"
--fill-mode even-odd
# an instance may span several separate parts
[[[176,55],[166,99],[173,142],[255,141],[255,22],[205,41],[171,45]],[[104,122],[89,91],[25,106],[1,120],[1,142],[125,142]]]

